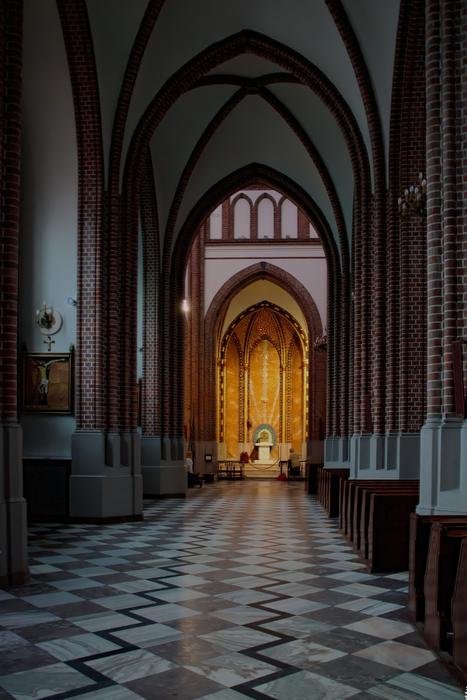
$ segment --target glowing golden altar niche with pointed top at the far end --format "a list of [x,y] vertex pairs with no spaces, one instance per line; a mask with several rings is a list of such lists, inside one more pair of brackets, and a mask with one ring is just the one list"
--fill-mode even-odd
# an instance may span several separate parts
[[[308,338],[287,311],[268,301],[245,309],[221,339],[218,452],[274,467],[290,447],[306,454]],[[267,449],[265,449],[267,448]]]

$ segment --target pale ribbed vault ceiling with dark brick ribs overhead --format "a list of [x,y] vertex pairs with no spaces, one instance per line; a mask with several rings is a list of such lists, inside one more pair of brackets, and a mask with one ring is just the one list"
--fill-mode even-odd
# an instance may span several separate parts
[[[219,54],[214,66],[201,67],[196,80],[177,88],[175,100],[170,98],[148,144],[161,238],[173,224],[173,245],[207,190],[256,162],[302,187],[342,248],[335,204],[343,213],[344,235],[350,238],[356,182],[348,139],[360,139],[373,187],[381,177],[375,163],[381,164],[381,155],[387,163],[399,0],[87,0],[107,169],[132,47],[144,29],[145,13],[157,5],[160,11],[153,12],[147,43],[132,64],[136,77],[124,122],[121,182],[145,111],[155,95],[166,94],[164,86],[177,71],[200,52],[245,30],[270,42],[264,52],[246,42],[238,55]],[[312,73],[318,78],[310,80]],[[335,110],[325,104],[319,76],[331,86],[357,137],[349,136],[348,124],[339,124]],[[227,108],[229,100],[235,101]],[[384,178],[384,167],[381,172]]]

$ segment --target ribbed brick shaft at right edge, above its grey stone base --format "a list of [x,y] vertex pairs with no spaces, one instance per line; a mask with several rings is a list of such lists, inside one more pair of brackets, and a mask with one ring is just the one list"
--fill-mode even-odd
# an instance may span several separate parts
[[451,347],[466,327],[466,13],[427,2],[428,416],[455,414]]

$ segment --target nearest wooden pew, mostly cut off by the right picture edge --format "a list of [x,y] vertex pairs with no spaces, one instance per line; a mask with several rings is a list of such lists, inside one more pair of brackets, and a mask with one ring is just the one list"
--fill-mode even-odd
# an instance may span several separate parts
[[452,596],[452,656],[467,687],[467,539],[461,542],[456,583]]

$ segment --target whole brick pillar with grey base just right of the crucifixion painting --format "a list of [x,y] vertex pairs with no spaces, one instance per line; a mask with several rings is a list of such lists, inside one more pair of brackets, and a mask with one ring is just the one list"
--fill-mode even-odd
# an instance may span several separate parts
[[[104,193],[99,90],[86,4],[67,0],[58,9],[73,89],[79,169],[77,431],[72,438],[70,516],[134,519],[142,513],[141,480],[128,460],[128,441],[121,440],[125,404],[118,405],[120,378],[127,376],[121,343],[120,198],[112,175],[110,193]],[[135,303],[136,296],[125,301]]]

